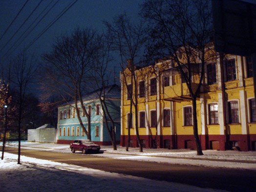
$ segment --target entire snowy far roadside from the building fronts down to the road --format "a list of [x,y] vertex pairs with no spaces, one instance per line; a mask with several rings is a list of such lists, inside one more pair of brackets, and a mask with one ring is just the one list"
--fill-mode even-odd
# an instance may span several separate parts
[[[9,146],[17,147],[17,142],[9,143]],[[21,147],[70,152],[69,145],[53,143],[23,142]],[[256,151],[204,150],[205,155],[197,156],[195,150],[189,149],[144,149],[144,152],[141,153],[138,148],[129,148],[129,151],[126,151],[124,147],[120,146],[118,146],[118,150],[113,150],[111,146],[102,146],[101,150],[102,153],[92,155],[135,161],[256,170]]]

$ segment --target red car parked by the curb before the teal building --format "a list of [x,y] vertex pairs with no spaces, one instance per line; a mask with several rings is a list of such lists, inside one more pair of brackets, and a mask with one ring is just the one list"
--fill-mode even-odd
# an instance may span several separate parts
[[89,139],[81,139],[75,140],[73,143],[70,144],[70,149],[72,153],[76,152],[76,150],[82,151],[84,154],[89,151],[99,152],[101,147],[96,145]]

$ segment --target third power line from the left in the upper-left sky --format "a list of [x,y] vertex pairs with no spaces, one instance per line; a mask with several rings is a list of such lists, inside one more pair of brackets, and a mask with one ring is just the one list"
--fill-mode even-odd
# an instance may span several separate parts
[[14,42],[14,44],[7,50],[7,52],[4,54],[4,56],[14,47],[17,46],[13,49],[13,51],[19,47],[19,45],[28,37],[28,35],[37,27],[37,25],[45,18],[45,16],[53,9],[53,7],[59,2],[60,0],[57,0],[51,7],[50,9],[43,15],[43,17],[35,24],[35,26],[26,34],[26,36],[21,40],[21,42],[18,44],[19,40],[21,37],[31,28],[31,26],[38,20],[38,18],[42,15],[42,13],[48,8],[48,6],[53,2],[50,1],[50,3],[47,4],[47,6],[43,9],[43,11],[39,14],[39,16],[30,24],[30,26],[21,34],[18,40]]

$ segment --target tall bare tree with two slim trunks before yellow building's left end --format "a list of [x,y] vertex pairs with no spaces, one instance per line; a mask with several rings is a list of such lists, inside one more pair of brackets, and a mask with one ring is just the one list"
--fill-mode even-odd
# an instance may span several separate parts
[[[117,51],[120,60],[121,60],[121,68],[122,68],[122,76],[121,81],[124,81],[127,90],[130,95],[130,121],[132,119],[132,106],[134,107],[135,112],[135,129],[136,129],[136,138],[139,144],[140,151],[142,152],[142,145],[140,142],[139,130],[138,130],[138,101],[137,101],[137,78],[135,75],[136,65],[140,65],[140,56],[142,55],[143,45],[145,42],[144,36],[144,26],[143,23],[140,22],[138,24],[132,24],[128,17],[124,15],[120,15],[116,17],[113,23],[104,22],[107,27],[108,35],[111,37],[112,49]],[[128,61],[128,63],[127,63]],[[129,70],[129,74],[125,72],[125,69]],[[128,78],[126,76],[130,76],[130,85],[131,89],[128,88],[128,82],[126,81]],[[134,90],[134,94],[133,94]],[[128,125],[128,143],[126,146],[126,150],[130,145],[130,128],[131,122]]]

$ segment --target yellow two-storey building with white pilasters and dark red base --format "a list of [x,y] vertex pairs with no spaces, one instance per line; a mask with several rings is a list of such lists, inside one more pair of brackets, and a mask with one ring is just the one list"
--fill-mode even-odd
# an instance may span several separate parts
[[[197,67],[199,66],[195,64],[194,68]],[[196,101],[202,149],[256,149],[256,106],[252,72],[251,59],[242,56],[228,55],[224,60],[218,58],[205,65],[205,78]],[[128,69],[125,73],[129,74]],[[171,67],[170,61],[166,61],[136,68],[135,73],[138,88],[138,129],[143,146],[195,149],[192,100],[180,72]],[[120,79],[120,145],[126,146],[130,110],[127,85],[129,88],[130,76],[121,75]],[[192,88],[198,82],[198,75],[192,75]],[[131,147],[137,147],[134,108],[132,113]]]

